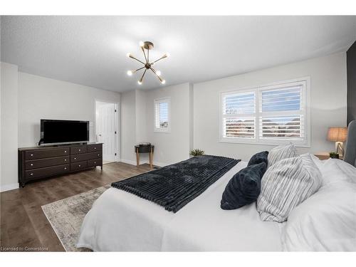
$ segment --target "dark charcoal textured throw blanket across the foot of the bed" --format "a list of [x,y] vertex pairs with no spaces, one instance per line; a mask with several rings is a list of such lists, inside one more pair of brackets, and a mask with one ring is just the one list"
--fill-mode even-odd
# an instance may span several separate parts
[[208,155],[192,157],[152,172],[113,182],[111,186],[153,201],[175,213],[240,160]]

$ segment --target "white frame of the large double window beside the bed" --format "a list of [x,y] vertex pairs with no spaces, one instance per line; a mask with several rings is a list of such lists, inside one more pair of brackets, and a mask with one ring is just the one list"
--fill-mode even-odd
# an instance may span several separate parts
[[[277,115],[278,113],[288,113],[289,111],[276,111],[276,112],[262,112],[262,100],[261,95],[265,90],[278,89],[283,86],[293,86],[293,85],[303,85],[302,88],[302,100],[300,105],[302,105],[303,110],[300,111],[300,114],[303,115],[303,127],[305,128],[303,133],[305,137],[303,140],[298,139],[270,139],[262,138],[260,132],[260,123],[262,115]],[[224,114],[223,114],[223,100],[225,95],[231,95],[234,93],[255,93],[255,138],[244,138],[244,137],[224,137]],[[299,115],[298,112],[290,112],[290,115]],[[236,116],[236,115],[235,115]],[[232,117],[232,116],[231,116]],[[241,117],[253,117],[253,115],[244,114]],[[224,143],[236,143],[236,144],[251,144],[251,145],[284,145],[293,142],[296,147],[310,147],[311,143],[310,135],[310,76],[295,78],[291,80],[283,80],[275,83],[269,83],[265,85],[258,85],[253,88],[241,88],[241,89],[231,89],[224,90],[219,93],[219,142]]]

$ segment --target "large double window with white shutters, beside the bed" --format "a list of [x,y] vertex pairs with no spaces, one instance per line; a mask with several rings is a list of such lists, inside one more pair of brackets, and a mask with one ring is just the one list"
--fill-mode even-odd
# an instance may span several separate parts
[[310,146],[308,78],[221,93],[222,142]]

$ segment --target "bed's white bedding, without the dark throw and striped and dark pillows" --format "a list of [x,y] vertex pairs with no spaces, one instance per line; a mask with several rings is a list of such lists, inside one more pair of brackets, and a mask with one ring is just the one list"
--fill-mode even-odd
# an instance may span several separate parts
[[[355,162],[356,157],[352,154],[350,158],[350,150],[355,151],[355,143],[351,141],[355,139],[355,129],[353,122],[346,147],[350,162]],[[256,203],[234,211],[220,208],[221,194],[229,179],[247,165],[239,162],[176,213],[135,194],[108,189],[85,216],[77,246],[93,251],[355,251],[356,169],[339,159],[316,163],[320,168],[325,166],[328,173],[328,167],[339,166],[333,167],[338,169],[333,176],[341,175],[347,182],[328,184],[321,192],[326,191],[326,199],[323,194],[310,197],[288,223],[261,221]],[[349,190],[350,194],[344,196],[340,194],[342,190]],[[340,194],[337,203],[332,199],[335,194]],[[313,201],[324,201],[325,207]],[[337,212],[340,209],[340,218],[339,214],[336,219],[330,218],[328,212],[333,205]],[[315,213],[308,214],[305,209]],[[337,219],[340,224],[335,225]],[[333,227],[338,229],[335,233]],[[323,239],[338,243],[323,244]]]

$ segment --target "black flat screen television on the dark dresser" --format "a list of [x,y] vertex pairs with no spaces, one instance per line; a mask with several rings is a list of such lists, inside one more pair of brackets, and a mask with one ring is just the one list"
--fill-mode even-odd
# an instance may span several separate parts
[[85,120],[41,120],[41,145],[89,142],[89,122]]

